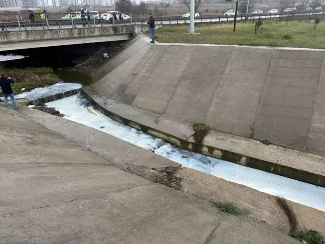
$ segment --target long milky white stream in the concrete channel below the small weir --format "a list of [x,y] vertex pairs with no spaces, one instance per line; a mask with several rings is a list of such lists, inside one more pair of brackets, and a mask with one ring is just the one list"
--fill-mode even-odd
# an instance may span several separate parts
[[325,211],[325,188],[314,186],[283,176],[252,169],[242,165],[192,153],[164,143],[146,133],[118,123],[97,109],[81,105],[85,98],[74,95],[47,103],[56,107],[65,118],[103,131],[119,139],[201,172],[242,184],[271,195],[280,195],[288,200]]

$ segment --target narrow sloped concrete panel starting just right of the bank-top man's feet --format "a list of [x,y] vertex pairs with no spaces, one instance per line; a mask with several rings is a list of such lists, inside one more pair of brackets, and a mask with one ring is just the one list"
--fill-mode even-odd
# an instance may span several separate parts
[[152,46],[124,78],[123,82],[113,92],[111,98],[125,104],[132,104],[135,96],[146,82],[154,67],[159,64],[167,48],[168,46]]

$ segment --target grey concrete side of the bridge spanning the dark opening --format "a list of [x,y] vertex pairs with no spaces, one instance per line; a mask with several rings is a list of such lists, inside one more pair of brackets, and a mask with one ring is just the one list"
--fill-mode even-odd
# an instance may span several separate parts
[[73,44],[123,41],[134,33],[148,31],[148,25],[119,25],[82,28],[32,29],[0,32],[0,52],[64,46]]

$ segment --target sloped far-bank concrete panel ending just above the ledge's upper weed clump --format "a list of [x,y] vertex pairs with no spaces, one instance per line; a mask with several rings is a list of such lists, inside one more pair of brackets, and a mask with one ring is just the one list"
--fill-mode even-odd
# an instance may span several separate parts
[[165,114],[181,121],[202,123],[232,49],[198,46],[166,107]]

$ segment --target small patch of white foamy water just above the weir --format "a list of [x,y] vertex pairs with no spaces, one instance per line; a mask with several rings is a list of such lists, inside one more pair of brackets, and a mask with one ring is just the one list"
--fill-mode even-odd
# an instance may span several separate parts
[[16,98],[28,98],[30,100],[36,100],[38,98],[55,95],[61,92],[70,91],[74,89],[81,88],[81,84],[77,83],[63,83],[59,82],[54,85],[49,85],[46,87],[36,88],[31,91],[26,91],[21,94],[16,95]]

